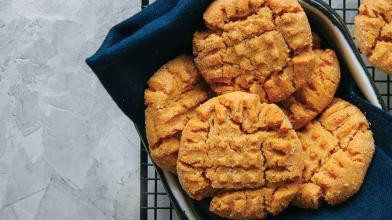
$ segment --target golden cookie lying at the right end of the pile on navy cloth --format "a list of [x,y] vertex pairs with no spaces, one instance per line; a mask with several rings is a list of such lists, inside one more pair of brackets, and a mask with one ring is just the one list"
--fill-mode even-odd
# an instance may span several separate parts
[[336,205],[358,192],[375,146],[369,123],[357,107],[334,99],[298,136],[305,167],[294,205],[316,209],[322,200]]

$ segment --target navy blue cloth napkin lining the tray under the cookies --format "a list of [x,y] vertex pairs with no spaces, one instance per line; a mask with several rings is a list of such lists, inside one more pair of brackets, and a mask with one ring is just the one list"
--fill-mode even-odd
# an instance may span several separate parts
[[[147,79],[164,63],[191,53],[192,35],[203,28],[210,0],[157,0],[114,26],[88,65],[121,110],[144,133]],[[276,219],[389,219],[392,214],[392,117],[366,101],[342,66],[338,96],[358,106],[371,123],[376,152],[360,192],[348,202],[320,210],[289,208]],[[197,204],[197,203],[196,203]],[[197,209],[206,213],[205,205]]]

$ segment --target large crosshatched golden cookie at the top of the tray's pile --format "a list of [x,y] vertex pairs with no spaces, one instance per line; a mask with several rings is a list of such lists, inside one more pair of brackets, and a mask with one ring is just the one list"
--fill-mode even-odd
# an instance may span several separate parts
[[193,53],[217,94],[244,91],[276,103],[308,81],[312,34],[297,0],[216,0],[204,21],[208,30],[194,34]]

